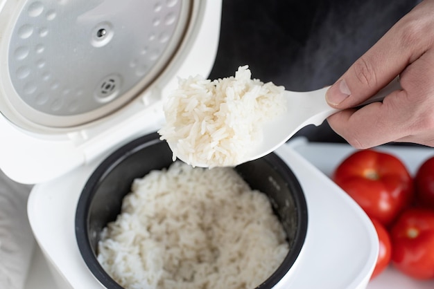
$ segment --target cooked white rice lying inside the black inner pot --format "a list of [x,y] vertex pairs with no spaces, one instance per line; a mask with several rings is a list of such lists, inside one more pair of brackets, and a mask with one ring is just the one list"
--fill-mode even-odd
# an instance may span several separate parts
[[288,250],[267,196],[234,169],[174,162],[134,180],[98,261],[124,288],[252,289]]

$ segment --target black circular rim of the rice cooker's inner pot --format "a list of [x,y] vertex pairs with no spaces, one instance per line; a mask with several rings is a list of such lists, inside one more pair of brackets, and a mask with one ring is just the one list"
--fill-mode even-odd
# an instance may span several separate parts
[[[104,270],[102,265],[98,262],[96,258],[96,252],[92,249],[90,236],[88,232],[88,221],[89,221],[89,209],[92,204],[92,199],[96,193],[96,188],[101,183],[101,181],[107,176],[107,174],[119,165],[125,158],[132,155],[133,153],[145,149],[146,147],[151,147],[156,145],[162,140],[159,140],[158,133],[150,133],[146,136],[141,136],[126,145],[116,149],[110,156],[107,156],[98,167],[94,170],[92,175],[88,178],[85,187],[80,194],[76,208],[76,241],[78,244],[78,249],[83,257],[87,267],[92,272],[94,277],[106,288],[114,289],[124,289],[119,285],[110,275]],[[297,180],[293,171],[288,167],[286,162],[279,158],[276,153],[269,153],[267,156],[263,156],[262,159],[266,160],[268,163],[272,164],[278,171],[284,171],[282,178],[286,180],[286,185],[288,189],[292,192],[293,201],[296,208],[297,214],[297,230],[295,236],[290,243],[290,250],[284,261],[279,265],[279,267],[273,272],[268,279],[263,281],[256,289],[268,289],[275,286],[293,267],[296,259],[299,257],[304,241],[307,234],[308,226],[308,214],[307,214],[307,204],[306,198],[300,183]]]

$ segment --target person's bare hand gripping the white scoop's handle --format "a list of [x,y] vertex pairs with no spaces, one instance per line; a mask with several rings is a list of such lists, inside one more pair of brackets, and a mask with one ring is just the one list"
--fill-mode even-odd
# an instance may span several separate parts
[[[401,91],[361,109],[399,75]],[[434,147],[434,0],[425,0],[367,50],[326,93],[344,109],[327,118],[349,145],[367,149],[387,142]]]

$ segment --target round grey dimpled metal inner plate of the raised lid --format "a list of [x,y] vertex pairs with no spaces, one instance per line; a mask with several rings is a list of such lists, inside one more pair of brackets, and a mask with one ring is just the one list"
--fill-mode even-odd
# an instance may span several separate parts
[[181,0],[0,0],[1,113],[19,127],[64,128],[120,109],[171,60],[189,9]]

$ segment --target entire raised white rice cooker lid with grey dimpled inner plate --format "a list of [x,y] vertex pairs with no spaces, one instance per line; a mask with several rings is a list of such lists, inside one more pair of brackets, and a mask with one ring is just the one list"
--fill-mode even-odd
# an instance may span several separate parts
[[0,0],[0,168],[41,183],[159,128],[208,75],[220,1]]

